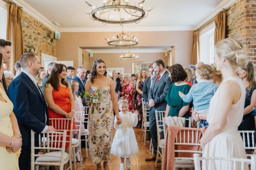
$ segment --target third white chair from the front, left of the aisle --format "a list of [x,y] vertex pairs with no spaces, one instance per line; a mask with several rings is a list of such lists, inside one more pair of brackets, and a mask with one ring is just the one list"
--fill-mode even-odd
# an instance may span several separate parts
[[[73,149],[73,161],[74,161],[74,169],[76,170],[76,155],[79,154],[80,158],[80,167],[82,166],[82,153],[81,153],[81,127],[83,122],[83,112],[75,112],[74,116],[76,115],[75,124],[76,124],[76,130],[78,132],[78,139],[72,138],[72,149]],[[76,147],[79,148],[79,150],[76,152]]]

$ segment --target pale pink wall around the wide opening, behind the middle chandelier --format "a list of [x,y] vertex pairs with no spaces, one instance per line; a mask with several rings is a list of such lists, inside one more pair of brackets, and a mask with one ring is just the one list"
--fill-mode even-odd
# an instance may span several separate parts
[[[89,47],[89,49],[106,47],[104,38],[110,38],[116,34],[117,32],[62,32],[61,39],[56,40],[56,57],[58,60],[73,60],[76,68],[80,47]],[[190,64],[192,31],[147,31],[127,32],[127,34],[136,35],[141,40],[138,46],[175,46],[175,62],[183,66]],[[107,60],[106,58],[105,62]],[[125,67],[125,65],[119,65],[119,67]]]

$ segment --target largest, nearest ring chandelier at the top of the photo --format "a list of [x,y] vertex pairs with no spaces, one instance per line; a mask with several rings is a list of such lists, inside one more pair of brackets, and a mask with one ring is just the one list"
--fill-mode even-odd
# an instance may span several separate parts
[[144,10],[143,3],[135,3],[134,6],[128,0],[103,0],[103,6],[92,6],[86,2],[88,6],[92,7],[89,14],[90,19],[102,22],[103,24],[128,24],[139,23],[140,20],[148,16],[151,10]]

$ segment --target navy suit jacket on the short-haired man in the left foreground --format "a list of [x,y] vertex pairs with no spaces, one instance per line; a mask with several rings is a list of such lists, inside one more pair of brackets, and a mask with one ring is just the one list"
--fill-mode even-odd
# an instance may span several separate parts
[[45,122],[48,125],[48,107],[44,95],[42,92],[40,94],[35,83],[23,72],[12,80],[7,89],[7,95],[14,105],[13,112],[22,135],[22,145],[30,146],[31,130],[37,133],[35,135],[36,142],[38,133],[45,128]]

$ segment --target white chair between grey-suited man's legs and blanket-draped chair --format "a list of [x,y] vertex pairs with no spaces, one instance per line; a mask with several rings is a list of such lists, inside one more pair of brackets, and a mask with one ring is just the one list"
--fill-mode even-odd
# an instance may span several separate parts
[[[155,162],[155,167],[157,167],[159,155],[162,156],[162,169],[163,169],[163,153],[165,147],[165,137],[166,137],[166,125],[164,122],[165,111],[155,111],[156,123],[157,123],[157,157]],[[160,139],[160,133],[162,133],[163,139]],[[160,151],[161,150],[161,151]]]

